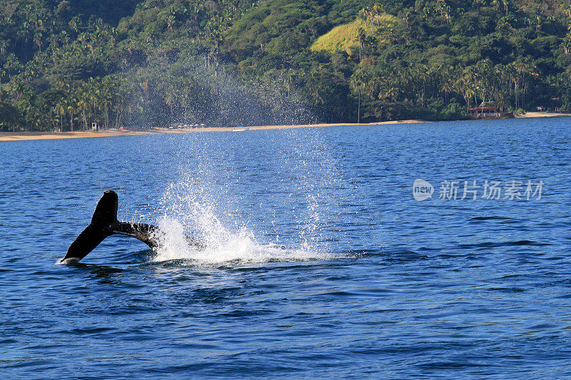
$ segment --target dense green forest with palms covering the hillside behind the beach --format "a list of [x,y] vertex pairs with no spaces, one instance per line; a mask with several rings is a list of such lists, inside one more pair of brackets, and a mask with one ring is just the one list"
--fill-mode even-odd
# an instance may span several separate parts
[[6,0],[0,130],[571,109],[569,0]]

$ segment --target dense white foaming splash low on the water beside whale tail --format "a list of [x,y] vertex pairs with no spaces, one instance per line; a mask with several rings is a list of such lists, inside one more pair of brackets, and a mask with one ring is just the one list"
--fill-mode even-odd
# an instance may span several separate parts
[[[157,220],[154,238],[160,247],[152,260],[185,260],[192,265],[219,265],[227,262],[276,262],[325,260],[327,252],[307,245],[289,248],[276,242],[260,242],[245,225],[227,227],[208,200],[211,191],[194,178],[171,184],[163,196],[163,215]],[[187,237],[191,237],[190,241]],[[201,242],[197,247],[193,240]]]

